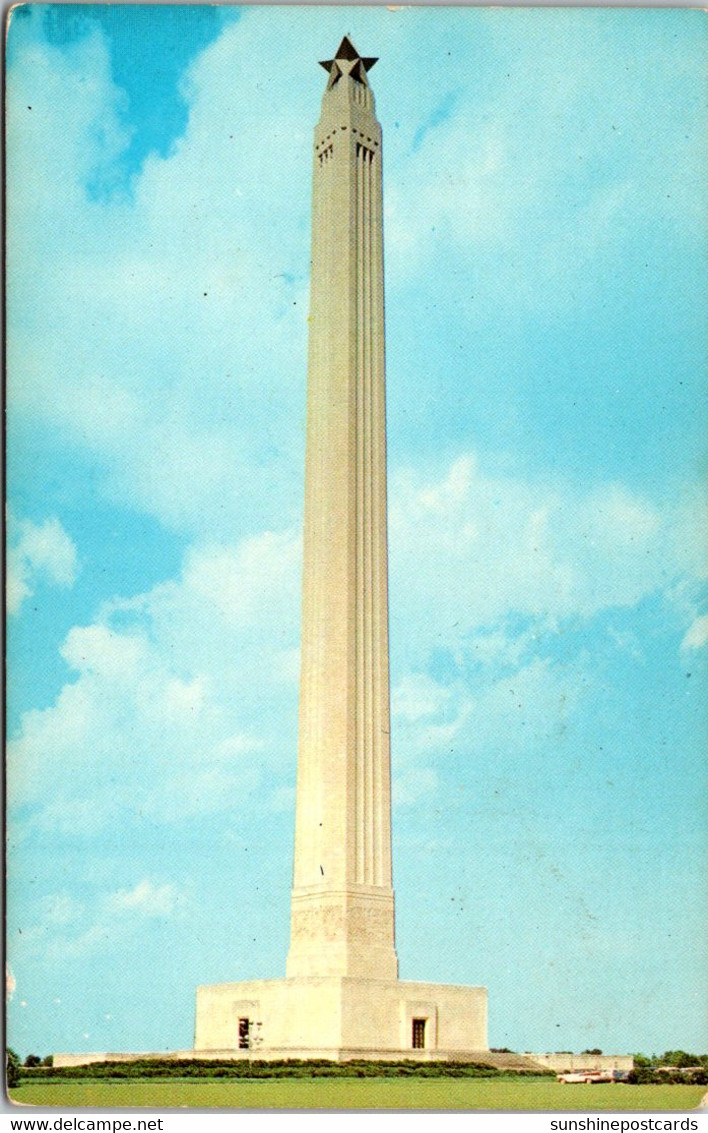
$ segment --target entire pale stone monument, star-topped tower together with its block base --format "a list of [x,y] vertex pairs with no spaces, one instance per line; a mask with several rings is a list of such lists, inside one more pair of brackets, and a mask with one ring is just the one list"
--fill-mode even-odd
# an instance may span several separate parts
[[[484,988],[398,979],[382,135],[347,36],[315,129],[300,725],[287,978],[197,989],[195,1053],[464,1058]],[[427,931],[433,936],[433,929]]]

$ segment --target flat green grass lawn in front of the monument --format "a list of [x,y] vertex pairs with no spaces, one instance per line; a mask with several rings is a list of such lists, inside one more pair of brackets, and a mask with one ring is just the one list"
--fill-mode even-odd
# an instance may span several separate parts
[[705,1085],[586,1085],[553,1079],[266,1079],[261,1081],[60,1081],[19,1085],[12,1101],[31,1106],[169,1109],[555,1109],[688,1110]]

